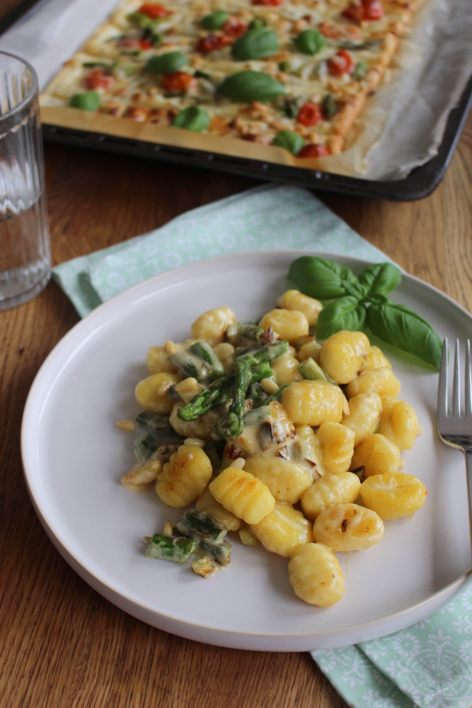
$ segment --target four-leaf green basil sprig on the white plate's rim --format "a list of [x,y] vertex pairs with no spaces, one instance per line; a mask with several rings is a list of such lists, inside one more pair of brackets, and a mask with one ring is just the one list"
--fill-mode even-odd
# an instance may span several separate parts
[[301,256],[290,265],[288,278],[305,295],[328,300],[316,326],[320,339],[341,329],[362,331],[368,327],[381,341],[415,354],[439,370],[442,340],[424,317],[388,297],[401,283],[401,271],[395,265],[375,263],[356,278],[350,268],[328,258]]

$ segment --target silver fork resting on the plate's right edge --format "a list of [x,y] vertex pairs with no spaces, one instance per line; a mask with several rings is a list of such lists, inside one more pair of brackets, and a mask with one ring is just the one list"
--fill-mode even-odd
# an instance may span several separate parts
[[[442,346],[439,386],[437,389],[437,430],[447,445],[459,447],[466,456],[468,525],[472,544],[472,372],[471,342],[466,344],[466,370],[464,409],[461,406],[461,367],[459,362],[459,339],[456,339],[454,355],[454,378],[452,381],[452,409],[448,406],[447,384],[447,338]],[[450,412],[449,412],[450,411]]]

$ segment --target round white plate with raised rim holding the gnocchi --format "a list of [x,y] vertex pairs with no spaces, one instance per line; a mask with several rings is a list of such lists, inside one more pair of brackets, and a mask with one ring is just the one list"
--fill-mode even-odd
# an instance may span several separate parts
[[[306,251],[304,251],[306,254]],[[427,617],[464,583],[471,565],[464,457],[436,431],[437,374],[385,351],[401,396],[424,433],[403,453],[405,472],[427,486],[413,519],[386,524],[384,539],[338,554],[346,592],[333,607],[298,600],[287,560],[234,539],[231,565],[209,580],[190,566],[150,561],[144,535],[182,512],[154,493],[120,484],[134,463],[132,433],[115,427],[138,412],[134,385],[146,377],[149,346],[188,338],[205,310],[229,305],[241,321],[274,307],[299,251],[241,253],[159,275],[96,309],[57,345],[25,407],[22,452],[35,509],[59,552],[90,585],[130,615],[174,634],[238,649],[303,651],[389,634]],[[359,272],[367,263],[330,256]],[[408,275],[395,293],[439,336],[470,337],[472,318]]]

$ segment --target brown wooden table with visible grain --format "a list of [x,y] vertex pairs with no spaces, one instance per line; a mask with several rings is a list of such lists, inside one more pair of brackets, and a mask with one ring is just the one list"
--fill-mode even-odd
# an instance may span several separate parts
[[[52,144],[45,154],[54,263],[258,184]],[[391,204],[318,196],[405,270],[471,311],[471,165],[472,118],[429,198]],[[104,600],[54,549],[23,481],[21,416],[40,365],[77,321],[53,283],[33,302],[0,312],[0,703],[345,707],[308,653],[219,649],[160,632]]]

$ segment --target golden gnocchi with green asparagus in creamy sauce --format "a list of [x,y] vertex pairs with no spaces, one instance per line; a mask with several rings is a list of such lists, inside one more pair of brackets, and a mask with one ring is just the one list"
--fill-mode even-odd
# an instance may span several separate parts
[[[321,295],[338,295],[335,283],[323,287]],[[323,317],[318,299],[288,290],[278,302],[249,323],[216,307],[195,319],[187,341],[149,349],[150,375],[135,389],[144,409],[138,462],[122,484],[154,486],[158,503],[186,509],[146,537],[149,558],[192,560],[207,578],[229,565],[232,533],[289,559],[295,593],[326,607],[345,591],[335,553],[368,549],[384,523],[425,503],[422,481],[399,472],[401,450],[421,430],[366,333],[341,329],[318,341],[310,324]],[[378,372],[382,382],[384,372],[395,378],[393,395],[384,384],[350,393]]]

